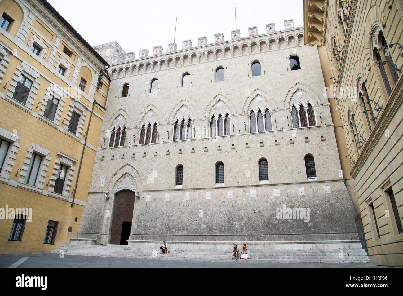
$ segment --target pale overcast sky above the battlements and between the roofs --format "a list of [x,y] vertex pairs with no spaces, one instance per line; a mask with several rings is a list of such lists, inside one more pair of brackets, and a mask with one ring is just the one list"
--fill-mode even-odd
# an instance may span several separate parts
[[178,50],[182,41],[191,39],[197,46],[198,37],[223,33],[231,39],[235,30],[234,3],[237,8],[237,29],[241,37],[248,35],[249,27],[258,27],[266,33],[266,24],[276,23],[276,30],[284,29],[284,21],[294,19],[294,26],[303,26],[302,0],[203,0],[203,1],[125,1],[125,0],[48,0],[91,46],[117,41],[125,52],[154,46],[167,51],[174,41],[175,19],[178,17],[175,42]]

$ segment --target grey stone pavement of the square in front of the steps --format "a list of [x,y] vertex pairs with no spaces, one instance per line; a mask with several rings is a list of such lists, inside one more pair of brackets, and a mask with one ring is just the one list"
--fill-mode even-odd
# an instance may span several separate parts
[[260,263],[238,260],[226,262],[130,259],[33,253],[0,255],[0,268],[378,268],[370,263]]

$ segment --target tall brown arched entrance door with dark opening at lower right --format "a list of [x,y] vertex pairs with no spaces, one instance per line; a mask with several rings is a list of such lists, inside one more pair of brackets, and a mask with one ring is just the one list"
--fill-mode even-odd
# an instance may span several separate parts
[[131,222],[133,219],[135,196],[131,190],[123,190],[115,194],[112,227],[110,230],[111,244],[127,244]]

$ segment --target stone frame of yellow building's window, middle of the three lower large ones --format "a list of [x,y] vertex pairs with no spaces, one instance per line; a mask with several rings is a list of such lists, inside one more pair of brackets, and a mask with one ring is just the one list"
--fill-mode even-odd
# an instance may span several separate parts
[[[27,176],[28,167],[29,167],[29,164],[31,163],[32,153],[34,153],[34,152],[36,154],[42,156],[42,161],[41,161],[41,165],[39,166],[39,171],[38,171],[37,180],[35,182],[35,186],[31,186],[31,185],[25,184],[25,177]],[[46,179],[46,175],[48,172],[49,164],[50,164],[49,163],[50,159],[51,158],[50,158],[49,149],[32,142],[31,147],[29,147],[27,149],[27,154],[25,154],[24,165],[21,168],[20,177],[18,179],[17,186],[42,193],[42,190],[44,189],[44,185],[45,185],[45,179]]]

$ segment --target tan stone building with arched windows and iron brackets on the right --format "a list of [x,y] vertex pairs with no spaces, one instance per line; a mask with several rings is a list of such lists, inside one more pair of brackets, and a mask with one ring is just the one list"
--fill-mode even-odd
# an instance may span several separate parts
[[403,4],[304,0],[304,33],[318,48],[363,246],[372,263],[403,266]]

